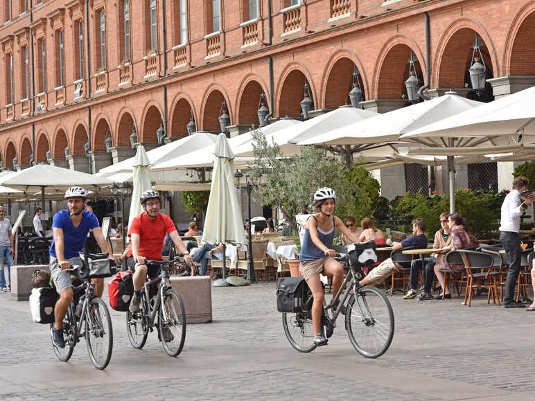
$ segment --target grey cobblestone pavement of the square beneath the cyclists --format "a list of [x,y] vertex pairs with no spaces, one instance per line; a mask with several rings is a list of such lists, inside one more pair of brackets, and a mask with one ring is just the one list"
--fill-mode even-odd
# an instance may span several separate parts
[[188,325],[177,358],[154,332],[134,350],[124,314],[112,311],[105,371],[89,362],[85,340],[59,362],[48,326],[32,323],[27,302],[0,294],[0,399],[535,400],[535,314],[487,305],[486,297],[466,308],[456,297],[417,303],[396,294],[394,341],[382,357],[356,353],[341,321],[327,347],[301,354],[283,334],[274,289],[213,288],[213,322]]

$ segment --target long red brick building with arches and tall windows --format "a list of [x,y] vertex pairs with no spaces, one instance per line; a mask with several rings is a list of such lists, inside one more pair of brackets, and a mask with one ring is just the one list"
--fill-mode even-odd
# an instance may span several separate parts
[[[262,92],[270,118],[299,117],[305,83],[319,114],[349,103],[353,71],[362,107],[387,112],[407,105],[410,57],[429,96],[469,96],[476,37],[483,96],[535,84],[534,0],[1,0],[0,19],[3,168],[96,172],[159,127],[218,132],[222,111],[238,134]],[[512,166],[492,167],[507,186]],[[378,172],[383,193],[413,170]]]

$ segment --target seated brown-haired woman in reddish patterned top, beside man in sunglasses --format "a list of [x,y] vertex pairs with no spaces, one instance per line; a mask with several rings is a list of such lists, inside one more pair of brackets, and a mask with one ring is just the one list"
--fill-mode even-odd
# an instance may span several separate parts
[[[450,227],[451,244],[443,247],[444,251],[450,251],[451,249],[475,249],[480,242],[468,229],[468,223],[459,215],[459,213],[452,213],[448,217],[448,226]],[[451,294],[448,290],[448,286],[444,287],[444,273],[441,269],[446,268],[446,258],[444,256],[437,258],[437,264],[435,265],[435,276],[439,280],[439,283],[443,289],[444,299],[450,299]],[[464,267],[463,267],[464,268]],[[434,296],[435,299],[442,299],[442,295]]]

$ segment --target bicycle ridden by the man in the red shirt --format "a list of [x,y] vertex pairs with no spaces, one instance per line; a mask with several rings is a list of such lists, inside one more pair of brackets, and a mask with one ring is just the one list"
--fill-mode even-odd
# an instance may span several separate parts
[[[176,357],[184,347],[186,339],[186,311],[179,294],[170,286],[169,269],[178,260],[146,260],[147,267],[157,265],[160,275],[143,285],[139,308],[141,312],[126,312],[126,331],[134,348],[145,346],[148,332],[158,326],[158,336],[164,350]],[[159,283],[158,293],[150,297],[150,286]],[[165,308],[161,308],[165,305]],[[155,323],[158,318],[157,323]]]

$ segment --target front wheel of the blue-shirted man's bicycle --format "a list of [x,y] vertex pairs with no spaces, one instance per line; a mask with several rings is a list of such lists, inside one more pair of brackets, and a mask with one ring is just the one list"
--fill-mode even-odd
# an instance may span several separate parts
[[[87,314],[87,311],[85,312]],[[98,297],[89,303],[91,316],[85,317],[85,341],[89,358],[97,369],[104,369],[112,359],[114,334],[112,318],[104,301]]]

